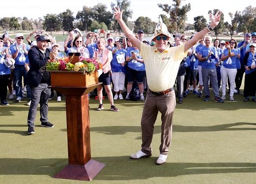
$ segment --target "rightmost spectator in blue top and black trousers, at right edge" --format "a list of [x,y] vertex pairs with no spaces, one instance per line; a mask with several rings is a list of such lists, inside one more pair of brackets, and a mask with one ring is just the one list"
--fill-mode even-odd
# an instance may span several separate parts
[[256,102],[255,90],[256,90],[256,43],[251,43],[250,52],[244,55],[244,101],[249,101],[249,96],[252,96],[252,100]]

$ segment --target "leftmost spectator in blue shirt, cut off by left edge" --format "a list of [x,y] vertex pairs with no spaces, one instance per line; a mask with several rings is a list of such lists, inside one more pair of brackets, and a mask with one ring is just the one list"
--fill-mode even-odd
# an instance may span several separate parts
[[10,57],[9,47],[3,46],[3,38],[0,37],[0,101],[1,105],[9,105],[6,101],[7,85],[11,69],[4,64],[4,58]]

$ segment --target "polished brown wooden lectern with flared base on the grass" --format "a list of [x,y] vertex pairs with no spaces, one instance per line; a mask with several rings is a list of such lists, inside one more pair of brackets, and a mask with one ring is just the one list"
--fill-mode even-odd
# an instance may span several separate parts
[[98,73],[50,71],[51,88],[66,95],[69,165],[54,178],[91,181],[105,164],[91,159],[88,93],[99,86]]

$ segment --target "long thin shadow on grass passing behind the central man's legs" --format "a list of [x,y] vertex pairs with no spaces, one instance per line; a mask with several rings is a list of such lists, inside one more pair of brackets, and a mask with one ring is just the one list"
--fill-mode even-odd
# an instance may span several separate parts
[[[215,132],[215,131],[240,131],[240,130],[256,130],[252,127],[235,127],[235,126],[243,126],[250,125],[256,126],[256,123],[229,123],[223,125],[215,125],[215,126],[181,126],[181,125],[173,125],[173,132]],[[161,133],[161,126],[154,126],[154,133]],[[62,129],[62,131],[66,131],[66,129]],[[100,126],[100,127],[91,127],[91,132],[99,132],[106,135],[123,135],[128,132],[141,132],[140,126]]]

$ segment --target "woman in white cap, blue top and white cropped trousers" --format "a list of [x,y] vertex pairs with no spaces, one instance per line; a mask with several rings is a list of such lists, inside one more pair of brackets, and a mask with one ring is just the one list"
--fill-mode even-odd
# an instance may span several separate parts
[[[122,96],[122,90],[125,87],[125,56],[127,51],[122,47],[122,42],[120,37],[115,38],[116,47],[112,48],[113,59],[111,61],[111,69],[112,69],[112,80],[114,84],[114,92],[116,93],[114,96],[114,100],[119,98],[120,100],[124,99]],[[119,95],[118,95],[119,93]]]

